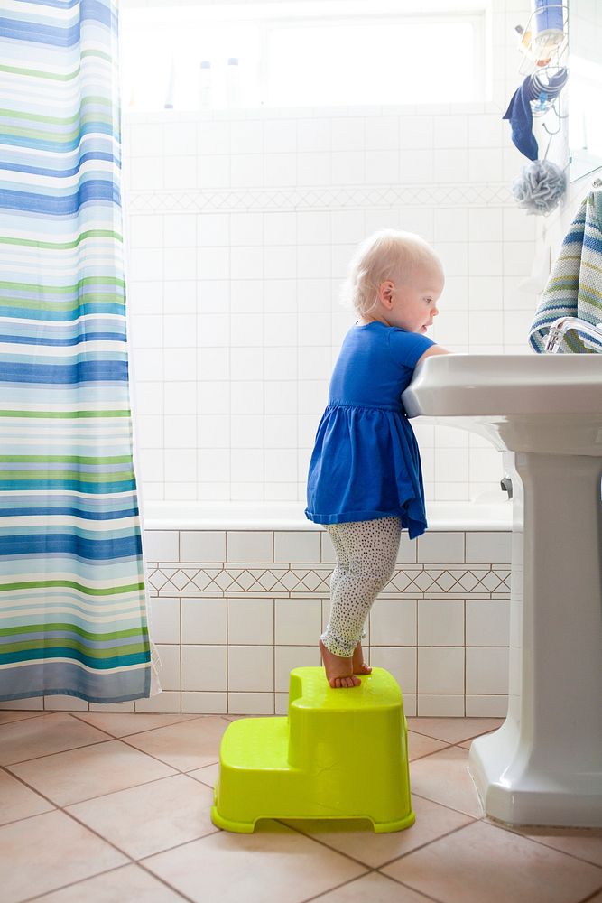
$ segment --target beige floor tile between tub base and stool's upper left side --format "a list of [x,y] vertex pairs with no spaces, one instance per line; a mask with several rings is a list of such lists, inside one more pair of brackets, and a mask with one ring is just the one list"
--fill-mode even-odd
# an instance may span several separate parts
[[191,771],[218,762],[219,744],[227,726],[228,721],[219,715],[202,715],[170,727],[134,734],[127,742],[173,768]]

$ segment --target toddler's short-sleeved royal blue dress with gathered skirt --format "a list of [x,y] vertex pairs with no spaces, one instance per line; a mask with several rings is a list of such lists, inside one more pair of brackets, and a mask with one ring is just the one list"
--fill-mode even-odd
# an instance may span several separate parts
[[424,533],[420,454],[401,394],[433,344],[378,321],[347,332],[310,460],[310,520],[400,517],[411,539]]

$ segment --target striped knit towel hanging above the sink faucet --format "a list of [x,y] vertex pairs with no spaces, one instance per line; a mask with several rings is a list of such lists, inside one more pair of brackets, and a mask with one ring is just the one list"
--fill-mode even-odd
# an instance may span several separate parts
[[[540,354],[551,324],[560,317],[579,317],[594,326],[602,322],[602,181],[592,188],[562,242],[529,331]],[[566,334],[564,346],[579,354],[594,352],[574,330]]]

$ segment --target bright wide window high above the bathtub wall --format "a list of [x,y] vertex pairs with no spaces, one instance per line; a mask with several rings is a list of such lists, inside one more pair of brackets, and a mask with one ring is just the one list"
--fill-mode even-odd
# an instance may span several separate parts
[[403,14],[403,4],[390,0],[126,4],[124,106],[192,110],[482,100],[485,12],[453,13],[441,6]]

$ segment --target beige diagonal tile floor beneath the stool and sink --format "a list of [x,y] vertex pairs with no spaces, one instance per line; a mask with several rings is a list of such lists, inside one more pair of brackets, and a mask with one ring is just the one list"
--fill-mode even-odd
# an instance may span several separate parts
[[0,899],[602,903],[602,831],[483,818],[469,740],[500,720],[408,723],[412,828],[264,822],[245,835],[209,818],[228,716],[0,712]]

